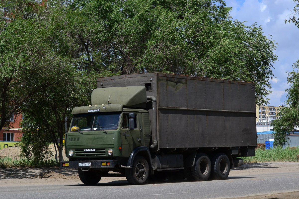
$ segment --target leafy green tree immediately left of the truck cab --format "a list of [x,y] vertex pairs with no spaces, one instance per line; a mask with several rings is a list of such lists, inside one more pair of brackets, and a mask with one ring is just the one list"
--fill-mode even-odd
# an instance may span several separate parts
[[62,161],[65,116],[71,114],[72,108],[87,105],[96,87],[94,72],[78,70],[76,60],[68,54],[68,37],[63,29],[65,15],[60,11],[61,8],[45,9],[31,23],[39,37],[32,36],[28,48],[40,70],[34,71],[30,79],[35,80],[33,85],[47,86],[40,87],[20,105],[24,136],[19,143],[25,157],[42,161],[49,155],[48,143],[53,142],[57,163],[57,154]]

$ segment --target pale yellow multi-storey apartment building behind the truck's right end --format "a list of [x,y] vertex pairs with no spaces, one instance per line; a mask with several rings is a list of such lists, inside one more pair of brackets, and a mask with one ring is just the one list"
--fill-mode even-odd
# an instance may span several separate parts
[[279,106],[266,106],[266,105],[255,105],[257,122],[261,121],[271,121],[276,120],[278,118],[279,109],[282,108],[283,105]]

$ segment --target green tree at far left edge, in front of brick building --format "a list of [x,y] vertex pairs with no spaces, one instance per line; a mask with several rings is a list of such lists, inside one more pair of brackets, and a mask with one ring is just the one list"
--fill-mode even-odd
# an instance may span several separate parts
[[31,3],[29,0],[0,2],[5,16],[0,19],[0,130],[8,125],[12,114],[20,111],[25,100],[47,86],[33,83],[35,80],[30,78],[34,71],[40,70],[39,60],[31,57],[29,49],[36,17]]

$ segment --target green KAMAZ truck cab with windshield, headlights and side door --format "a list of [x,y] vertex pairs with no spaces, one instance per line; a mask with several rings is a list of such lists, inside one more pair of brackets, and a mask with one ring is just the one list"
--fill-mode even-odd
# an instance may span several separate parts
[[[133,89],[134,92],[139,89],[145,95],[144,86],[129,90]],[[103,92],[101,93],[103,96]],[[132,96],[129,93],[127,92],[128,96]],[[144,97],[143,102],[147,100]],[[76,107],[72,110],[72,115],[65,134],[65,153],[69,161],[62,162],[61,167],[78,168],[83,183],[98,183],[100,177],[108,175],[108,171],[125,176],[125,170],[132,168],[136,151],[144,151],[149,160],[151,128],[147,110],[138,108],[138,105],[137,108],[124,108],[123,104],[107,102],[105,105]],[[140,173],[139,181],[147,180],[148,165],[146,171],[146,174],[145,171]]]

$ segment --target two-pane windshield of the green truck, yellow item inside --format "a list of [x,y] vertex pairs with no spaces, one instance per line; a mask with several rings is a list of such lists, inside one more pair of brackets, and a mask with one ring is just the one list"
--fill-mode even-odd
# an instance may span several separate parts
[[120,113],[89,113],[74,115],[71,131],[117,129]]

